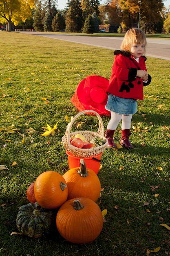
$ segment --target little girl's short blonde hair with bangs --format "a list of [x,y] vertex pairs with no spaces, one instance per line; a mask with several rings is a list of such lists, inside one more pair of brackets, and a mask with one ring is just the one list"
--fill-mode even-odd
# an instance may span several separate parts
[[147,44],[145,33],[141,29],[137,29],[137,28],[129,29],[124,36],[120,49],[131,52],[130,49],[132,47],[132,44],[134,43],[145,44],[145,45]]

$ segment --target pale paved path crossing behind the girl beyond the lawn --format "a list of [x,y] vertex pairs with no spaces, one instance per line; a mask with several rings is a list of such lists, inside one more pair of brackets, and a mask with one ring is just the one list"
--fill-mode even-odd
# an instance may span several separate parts
[[[106,49],[120,49],[121,41],[120,37],[97,37],[97,36],[82,36],[82,35],[67,35],[55,34],[51,32],[31,32],[31,31],[18,31],[19,33],[31,34],[36,36],[44,36],[57,40],[64,40],[74,43],[81,43],[84,45],[93,45],[96,47]],[[170,40],[168,39],[151,39],[147,38],[146,56],[161,58],[170,61]]]

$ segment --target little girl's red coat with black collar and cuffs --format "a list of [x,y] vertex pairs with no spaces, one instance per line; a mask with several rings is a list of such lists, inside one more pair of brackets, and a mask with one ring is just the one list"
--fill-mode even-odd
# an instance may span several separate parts
[[148,81],[144,83],[136,75],[137,70],[146,70],[145,61],[145,56],[141,56],[137,63],[130,52],[115,50],[115,61],[106,92],[120,98],[143,100],[143,86],[150,84],[151,76],[148,75]]

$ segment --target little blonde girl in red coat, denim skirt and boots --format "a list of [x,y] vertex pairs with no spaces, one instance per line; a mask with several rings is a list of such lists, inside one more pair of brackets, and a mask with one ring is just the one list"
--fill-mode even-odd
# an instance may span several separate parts
[[128,30],[121,43],[121,50],[115,50],[109,86],[106,90],[106,109],[111,119],[105,131],[108,147],[116,148],[113,140],[115,129],[121,123],[120,144],[133,148],[129,141],[132,114],[137,112],[137,99],[143,100],[143,86],[150,84],[151,76],[146,70],[146,36],[141,29]]

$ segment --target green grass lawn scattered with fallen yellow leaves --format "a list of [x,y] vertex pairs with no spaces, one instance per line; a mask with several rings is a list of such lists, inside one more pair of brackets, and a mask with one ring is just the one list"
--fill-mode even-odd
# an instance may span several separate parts
[[[132,117],[134,149],[106,148],[102,155],[99,207],[108,211],[102,233],[91,244],[75,245],[57,231],[39,239],[11,233],[18,232],[18,209],[29,203],[26,189],[36,177],[69,169],[62,145],[65,116],[70,120],[78,113],[70,99],[86,76],[109,79],[114,53],[5,31],[0,45],[0,165],[8,167],[0,170],[0,256],[170,255],[170,231],[160,225],[170,226],[170,61],[148,57],[152,83],[144,88],[144,101],[138,101]],[[109,117],[102,120],[106,128]],[[41,136],[42,127],[57,121],[54,136]],[[78,121],[97,131],[97,117]],[[28,134],[29,128],[38,132]],[[121,124],[117,143],[120,130]],[[157,247],[159,252],[147,251]]]

